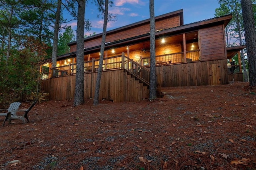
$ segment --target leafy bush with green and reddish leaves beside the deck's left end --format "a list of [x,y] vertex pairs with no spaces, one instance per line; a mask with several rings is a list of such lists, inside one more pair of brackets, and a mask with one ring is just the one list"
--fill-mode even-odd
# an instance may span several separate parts
[[18,40],[21,49],[12,49],[11,56],[0,62],[0,104],[25,101],[38,85],[39,61],[46,55],[44,44],[31,37]]

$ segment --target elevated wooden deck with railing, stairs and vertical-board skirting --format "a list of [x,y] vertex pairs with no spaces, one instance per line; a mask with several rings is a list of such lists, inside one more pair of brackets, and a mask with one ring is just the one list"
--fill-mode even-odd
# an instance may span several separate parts
[[[178,54],[175,54],[177,56]],[[169,55],[171,56],[171,55]],[[182,57],[182,55],[178,55]],[[163,56],[166,58],[166,55]],[[163,60],[158,58],[159,60]],[[166,60],[169,60],[167,58]],[[144,60],[138,61],[141,64]],[[113,102],[138,102],[149,95],[149,66],[138,64],[126,56],[104,59],[100,84],[100,100]],[[148,60],[147,60],[148,62]],[[56,70],[54,76],[53,70]],[[98,61],[84,63],[84,98],[93,98],[98,70]],[[51,77],[42,80],[41,90],[50,93],[50,100],[74,98],[76,65],[52,68]],[[228,74],[227,60],[162,62],[156,64],[158,87],[200,86],[228,84],[236,75]],[[240,79],[240,77],[238,77]],[[160,89],[160,88],[159,88]]]

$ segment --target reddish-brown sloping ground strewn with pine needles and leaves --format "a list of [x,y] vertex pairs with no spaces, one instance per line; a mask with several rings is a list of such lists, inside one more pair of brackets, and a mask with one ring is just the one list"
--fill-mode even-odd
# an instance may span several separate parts
[[138,103],[36,104],[27,124],[0,127],[0,169],[256,170],[256,88],[234,82],[162,92]]

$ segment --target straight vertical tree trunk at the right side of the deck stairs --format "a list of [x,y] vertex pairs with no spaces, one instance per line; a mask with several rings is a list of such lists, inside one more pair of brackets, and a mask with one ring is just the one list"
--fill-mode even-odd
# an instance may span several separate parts
[[150,12],[150,85],[149,99],[156,98],[156,45],[155,45],[155,14],[154,0],[149,1]]

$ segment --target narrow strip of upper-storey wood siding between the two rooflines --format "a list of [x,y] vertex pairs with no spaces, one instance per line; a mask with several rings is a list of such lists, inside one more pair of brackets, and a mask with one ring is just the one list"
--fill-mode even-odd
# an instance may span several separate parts
[[[172,18],[158,20],[155,23],[156,30],[161,30],[161,29],[164,30],[164,29],[173,28],[176,26],[180,26],[180,16],[174,16]],[[126,38],[140,36],[148,32],[150,32],[150,23],[134,26],[127,30],[122,30],[121,32],[114,32],[113,34],[107,34],[106,42],[114,42],[120,39],[124,40]],[[87,40],[84,42],[84,48],[92,48],[95,46],[100,46],[101,40],[102,40],[102,37],[94,38],[92,40]],[[75,52],[75,51],[76,51],[76,44],[73,44],[70,46],[70,52]]]

